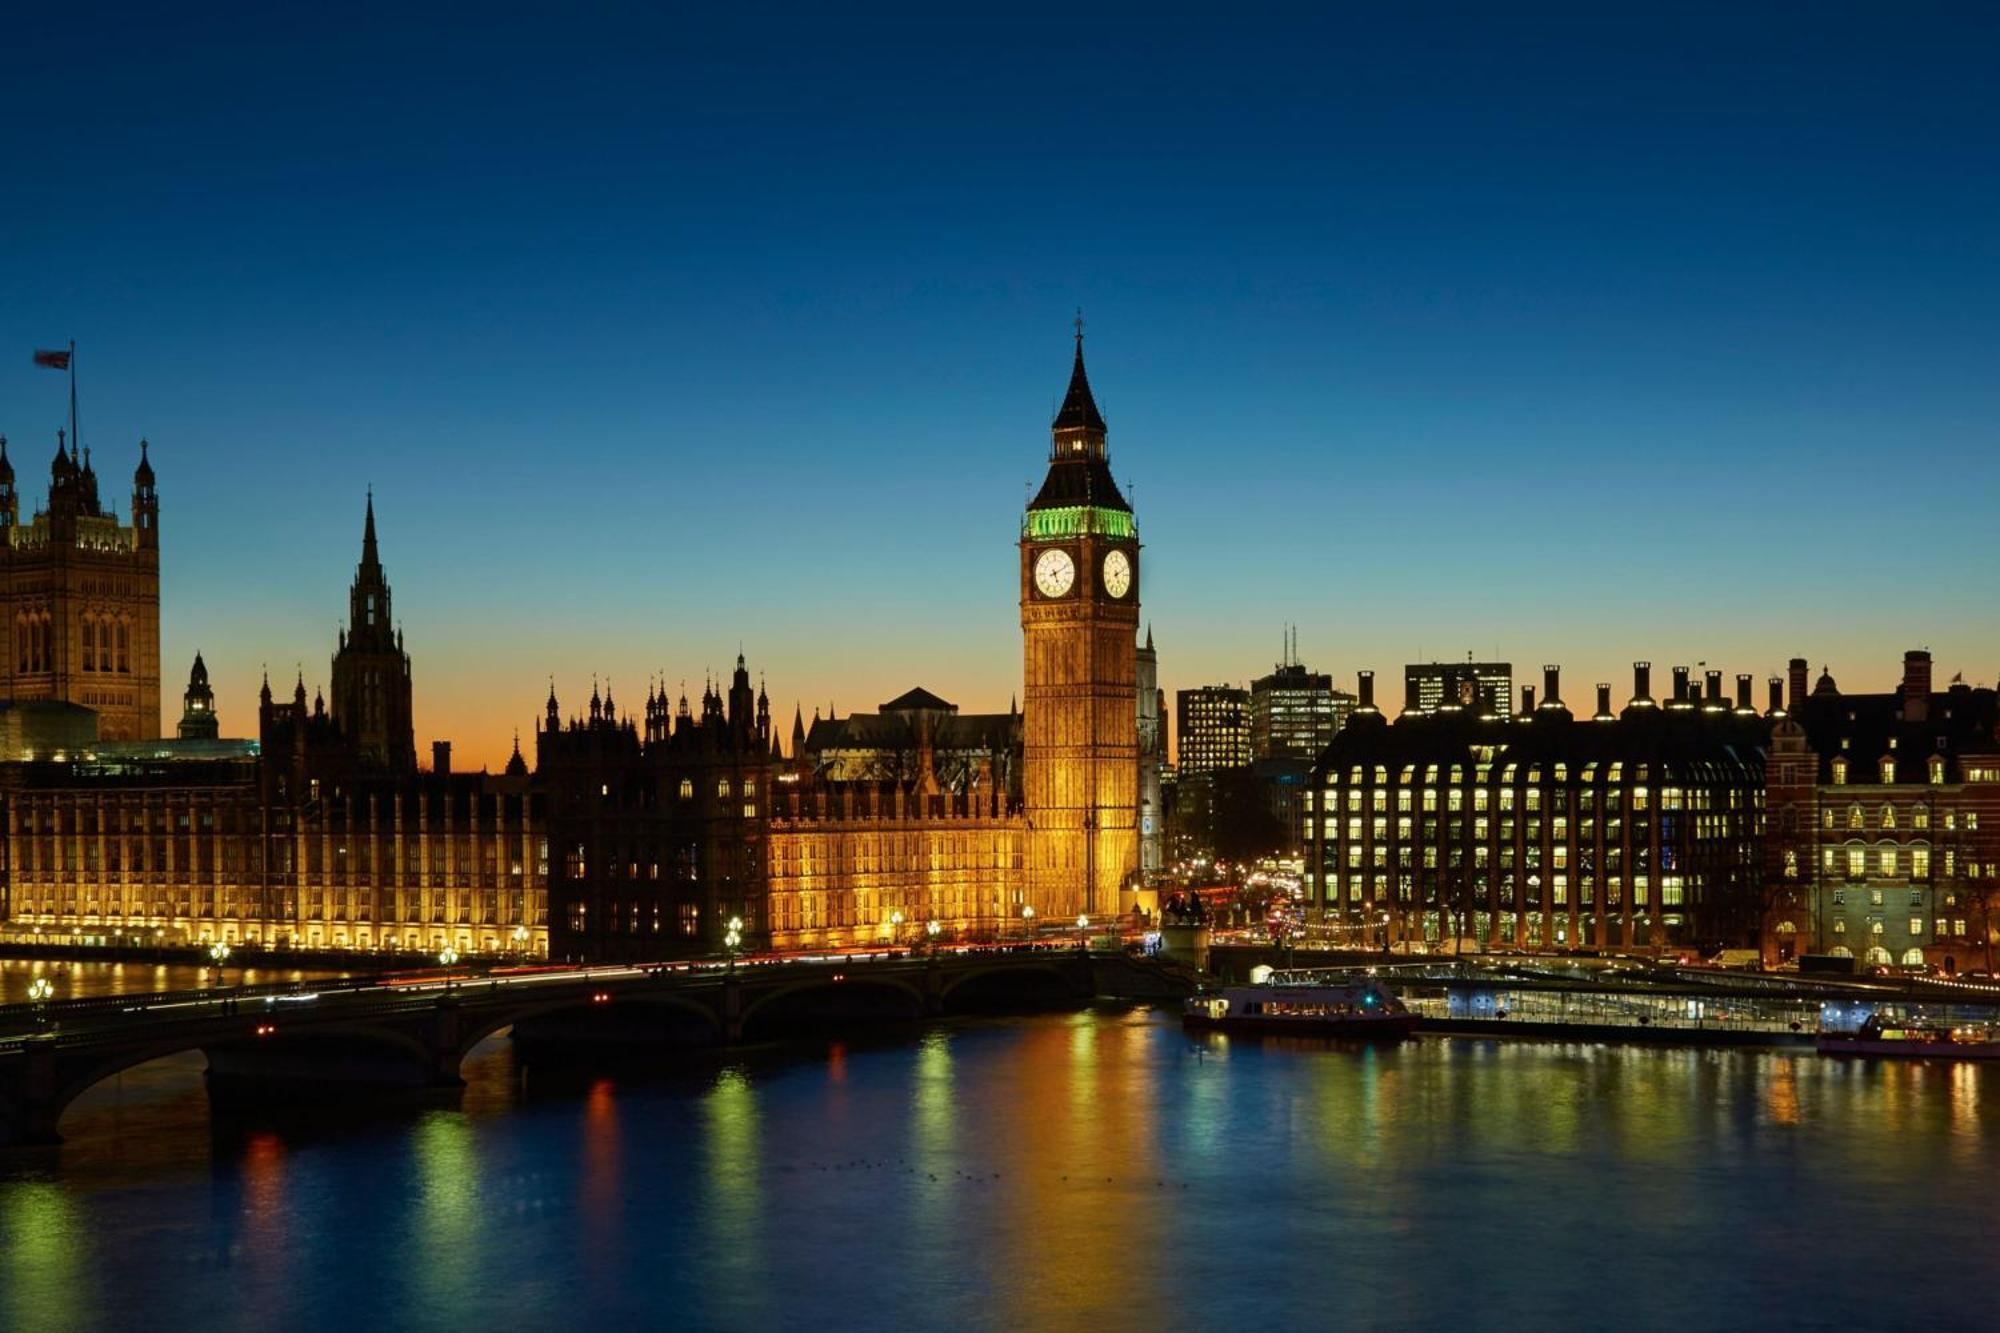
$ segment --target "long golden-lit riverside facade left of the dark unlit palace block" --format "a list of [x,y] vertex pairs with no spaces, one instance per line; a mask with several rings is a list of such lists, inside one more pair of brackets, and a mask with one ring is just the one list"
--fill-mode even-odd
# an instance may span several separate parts
[[[372,552],[370,512],[358,586],[380,574]],[[388,689],[406,699],[408,673]],[[220,739],[196,658],[178,739],[0,765],[0,919],[94,943],[540,955],[548,851],[526,763],[458,775],[440,743],[416,773],[366,745],[364,717],[308,705],[304,679],[290,703],[266,683],[258,741]]]

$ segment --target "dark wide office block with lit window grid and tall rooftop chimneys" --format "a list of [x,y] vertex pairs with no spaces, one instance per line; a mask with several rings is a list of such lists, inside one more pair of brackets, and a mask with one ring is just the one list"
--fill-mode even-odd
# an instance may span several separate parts
[[[1676,669],[1648,697],[1648,669],[1618,715],[1544,701],[1518,719],[1490,705],[1396,723],[1372,675],[1304,799],[1308,903],[1328,921],[1428,949],[1744,947],[1762,909],[1768,723]],[[1476,697],[1474,697],[1476,701]]]

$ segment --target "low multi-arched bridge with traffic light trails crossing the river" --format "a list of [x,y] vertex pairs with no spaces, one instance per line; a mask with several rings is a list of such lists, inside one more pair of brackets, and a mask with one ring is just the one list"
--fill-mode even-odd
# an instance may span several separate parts
[[58,1143],[62,1111],[120,1071],[200,1051],[210,1087],[454,1087],[472,1047],[686,1047],[1192,989],[1100,949],[944,949],[632,967],[522,967],[0,1005],[0,1147]]

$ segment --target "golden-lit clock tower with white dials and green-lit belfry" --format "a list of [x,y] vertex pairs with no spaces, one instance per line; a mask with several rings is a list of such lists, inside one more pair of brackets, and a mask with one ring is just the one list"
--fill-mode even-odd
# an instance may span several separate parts
[[1048,478],[1020,524],[1028,901],[1116,913],[1138,871],[1138,526],[1076,332]]

